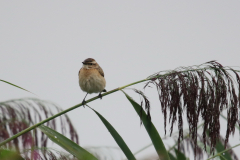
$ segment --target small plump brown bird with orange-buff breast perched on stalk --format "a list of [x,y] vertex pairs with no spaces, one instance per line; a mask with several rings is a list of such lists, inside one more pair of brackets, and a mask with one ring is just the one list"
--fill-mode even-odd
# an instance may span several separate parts
[[85,98],[88,94],[99,93],[102,99],[102,92],[106,92],[106,80],[102,68],[93,58],[87,58],[83,62],[83,66],[78,73],[79,86],[82,91],[87,92],[82,104],[86,103]]

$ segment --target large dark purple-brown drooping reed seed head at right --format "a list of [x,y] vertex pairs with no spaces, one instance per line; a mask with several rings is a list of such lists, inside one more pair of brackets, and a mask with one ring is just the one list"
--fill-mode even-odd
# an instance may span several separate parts
[[[232,73],[236,76],[236,84]],[[203,142],[206,149],[206,132],[209,130],[211,151],[214,150],[220,137],[219,116],[223,109],[227,109],[227,131],[225,145],[230,134],[234,134],[235,124],[238,120],[238,107],[240,104],[239,71],[230,67],[223,67],[216,61],[210,61],[199,66],[180,67],[173,71],[159,72],[150,77],[144,88],[153,84],[156,86],[164,115],[166,134],[167,112],[169,113],[170,134],[173,124],[178,121],[178,142],[183,139],[183,118],[185,110],[189,124],[190,138],[197,149],[197,125],[199,116],[204,121]],[[235,86],[237,85],[237,87]],[[237,88],[237,92],[235,91]]]

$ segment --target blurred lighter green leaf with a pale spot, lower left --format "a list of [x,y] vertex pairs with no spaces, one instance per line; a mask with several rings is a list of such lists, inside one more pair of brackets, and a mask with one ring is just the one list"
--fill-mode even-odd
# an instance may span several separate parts
[[51,139],[54,143],[58,144],[66,151],[77,157],[79,160],[97,160],[91,153],[63,136],[62,134],[52,130],[51,128],[41,125],[38,127],[43,133],[45,133],[49,139]]

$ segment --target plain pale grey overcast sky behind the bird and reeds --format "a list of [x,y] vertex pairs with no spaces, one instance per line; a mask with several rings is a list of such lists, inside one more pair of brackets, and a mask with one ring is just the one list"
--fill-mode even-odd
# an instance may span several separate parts
[[[210,60],[240,66],[240,1],[1,0],[0,54],[0,79],[67,109],[85,96],[78,85],[78,71],[86,58],[94,58],[103,68],[107,90],[157,71]],[[0,88],[1,101],[34,97],[4,83]],[[139,102],[139,96],[129,94]],[[163,137],[156,89],[146,94],[153,123]],[[121,92],[89,105],[115,127],[133,152],[151,143]],[[81,146],[117,146],[88,108],[68,115]],[[234,139],[231,144],[238,144],[239,135]]]

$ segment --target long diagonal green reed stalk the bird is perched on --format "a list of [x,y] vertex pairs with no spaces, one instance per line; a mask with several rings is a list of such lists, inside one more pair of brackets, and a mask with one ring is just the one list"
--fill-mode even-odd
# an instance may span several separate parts
[[[182,70],[181,73],[191,72],[191,71],[206,71],[206,70],[208,70],[208,69],[209,69],[209,70],[213,70],[213,67],[211,67],[211,66],[202,67],[202,68],[200,68],[200,66],[201,66],[201,65],[197,66],[197,67],[199,67],[199,68],[194,68],[194,69],[193,69],[193,68],[189,68],[189,69],[188,69],[188,68],[187,68],[187,69],[184,68],[184,69],[186,69],[186,70]],[[225,69],[225,70],[231,70],[231,71],[232,71],[232,69],[229,69],[229,68],[224,68],[224,69]],[[237,71],[237,70],[234,70],[234,71],[239,72],[239,71]],[[165,72],[165,74],[159,74],[159,73],[158,73],[158,74],[152,75],[152,76],[150,76],[150,77],[148,77],[148,78],[146,78],[146,79],[142,79],[142,80],[140,80],[140,81],[136,81],[136,82],[130,83],[130,84],[128,84],[128,85],[125,85],[125,86],[122,86],[122,87],[113,89],[113,90],[111,90],[111,91],[109,91],[109,92],[106,92],[106,93],[102,94],[102,96],[106,96],[106,95],[112,94],[112,93],[114,93],[114,92],[120,91],[120,90],[122,90],[122,89],[124,89],[124,88],[127,88],[127,87],[129,87],[129,86],[132,86],[132,85],[135,85],[135,84],[138,84],[138,83],[142,83],[142,82],[149,81],[149,80],[152,80],[152,79],[156,79],[156,78],[159,78],[159,77],[165,77],[165,76],[168,76],[168,75],[171,75],[171,74],[172,74],[172,72],[167,72],[167,73]],[[98,96],[95,96],[95,97],[87,100],[86,103],[92,102],[92,101],[94,101],[94,100],[96,100],[96,99],[98,99],[98,98],[99,98]],[[52,117],[49,117],[49,118],[47,118],[47,119],[45,119],[45,120],[43,120],[43,121],[41,121],[41,122],[39,122],[39,123],[37,123],[37,124],[35,124],[35,125],[33,125],[33,126],[27,128],[27,129],[25,129],[25,130],[22,130],[21,132],[18,132],[18,133],[15,134],[14,136],[12,136],[12,137],[10,137],[10,138],[2,141],[2,142],[0,143],[0,147],[3,146],[3,145],[5,145],[6,143],[10,142],[11,140],[13,140],[13,139],[15,139],[15,138],[23,135],[24,133],[27,133],[27,132],[35,129],[35,128],[38,127],[38,126],[40,126],[40,125],[42,125],[42,124],[44,124],[44,123],[46,123],[46,122],[48,122],[48,121],[56,118],[56,117],[59,117],[59,116],[65,114],[65,113],[67,113],[67,112],[69,112],[69,111],[71,111],[71,110],[74,110],[74,109],[76,109],[76,108],[78,108],[78,107],[81,107],[81,106],[82,106],[82,103],[79,103],[79,104],[77,104],[77,105],[75,105],[75,106],[73,106],[73,107],[70,107],[70,108],[68,108],[68,109],[66,109],[66,110],[64,110],[64,111],[62,111],[62,112],[59,112],[58,114],[56,114],[56,115],[54,115],[54,116],[52,116]]]

